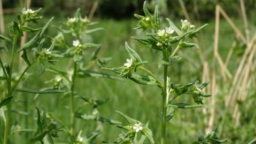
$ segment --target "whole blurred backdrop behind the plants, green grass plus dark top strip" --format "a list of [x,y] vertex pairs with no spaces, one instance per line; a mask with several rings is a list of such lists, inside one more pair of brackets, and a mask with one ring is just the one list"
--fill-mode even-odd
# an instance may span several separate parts
[[[141,30],[133,30],[137,23],[133,14],[142,13],[143,2],[144,1],[141,0],[100,0],[92,21],[98,21],[99,24],[94,27],[102,27],[104,30],[88,36],[88,39],[102,45],[103,50],[100,53],[101,55],[113,58],[108,62],[108,67],[118,67],[123,65],[126,58],[128,58],[128,53],[125,51],[124,46],[125,41],[127,41],[131,47],[141,54],[143,60],[150,62],[150,65],[146,64],[145,66],[152,71],[156,71],[156,75],[161,77],[161,70],[158,69],[158,62],[161,58],[161,53],[147,49],[147,47],[139,44],[131,38],[131,36],[142,33]],[[20,5],[22,5],[22,1],[2,0],[2,3],[4,12],[7,12],[4,13],[4,22],[5,25],[7,25],[7,23],[15,19],[15,14],[13,13],[15,10],[12,9],[19,8]],[[32,0],[31,7],[32,9],[33,7],[43,8],[42,15],[44,15],[44,17],[43,20],[41,20],[42,25],[48,21],[50,17],[55,16],[52,26],[58,26],[60,22],[65,22],[67,17],[72,17],[78,7],[81,7],[83,15],[88,15],[93,3],[94,1],[92,0]],[[210,63],[210,71],[212,71],[215,65],[215,61],[213,61],[215,6],[216,4],[221,5],[232,20],[234,20],[235,25],[239,29],[243,29],[244,26],[241,17],[240,3],[234,0],[184,0],[184,3],[192,21],[194,21],[193,24],[196,26],[201,25],[200,23],[210,24],[200,35],[198,35],[198,40],[206,61]],[[179,1],[159,0],[150,1],[150,4],[151,5],[149,5],[149,7],[151,7],[151,9],[153,9],[155,4],[158,4],[161,11],[161,17],[168,17],[172,19],[177,26],[180,26],[180,19],[184,19],[184,14],[181,10]],[[245,1],[245,7],[247,17],[249,19],[249,29],[254,31],[256,1]],[[20,10],[18,12],[20,12]],[[164,22],[164,25],[167,26],[167,22],[164,19],[162,19],[162,21]],[[49,28],[47,34],[50,36],[56,36],[57,29]],[[252,34],[253,32],[251,35]],[[7,29],[5,29],[5,35],[8,35]],[[220,36],[219,52],[221,57],[225,58],[232,43],[234,43],[236,39],[234,30],[232,30],[228,23],[223,19],[220,20]],[[32,37],[33,35],[28,35],[28,39]],[[72,42],[72,39],[70,39],[70,42]],[[228,66],[232,73],[234,73],[235,68],[239,64],[239,60],[241,59],[241,55],[245,50],[243,44],[241,45],[242,46],[237,46],[237,49],[234,50]],[[186,84],[196,80],[200,81],[203,74],[203,66],[201,66],[196,48],[186,49],[182,51],[182,54],[189,55],[193,61],[190,59],[184,59],[178,65],[172,66],[169,71],[169,76],[172,78],[172,81],[174,83],[181,84]],[[3,56],[1,55],[1,57]],[[90,54],[88,57],[90,57]],[[8,59],[8,57],[5,57],[5,60],[8,61]],[[54,67],[65,68],[63,66],[66,66],[66,63],[67,60],[64,59],[57,62]],[[49,67],[52,66],[49,65]],[[97,68],[95,69],[99,70]],[[24,83],[24,87],[37,90],[41,87],[45,87],[43,82],[50,79],[51,75],[45,73],[38,77],[36,67],[33,67],[33,69],[30,70],[30,73],[33,71],[35,71],[35,73],[27,82]],[[219,69],[216,69],[216,71],[219,71]],[[37,80],[35,81],[35,79]],[[222,77],[219,73],[216,77],[216,81],[218,83],[218,94],[214,95],[216,103],[214,106],[210,106],[210,108],[215,109],[214,126],[226,126],[222,137],[228,139],[228,143],[244,143],[246,140],[249,140],[256,135],[255,85],[250,87],[250,92],[248,93],[250,97],[248,97],[244,103],[241,103],[242,116],[239,126],[234,126],[231,114],[227,115],[227,123],[221,123],[223,116],[226,115],[224,113],[226,108],[224,106],[224,101],[225,96],[227,96],[228,93],[227,87],[229,87],[230,84],[222,83]],[[161,93],[157,87],[137,85],[131,81],[114,81],[113,79],[104,78],[99,78],[97,81],[95,81],[94,78],[79,79],[77,83],[77,91],[87,97],[110,97],[110,101],[99,108],[103,116],[111,117],[112,119],[126,123],[117,113],[114,112],[114,110],[119,110],[143,123],[150,121],[149,127],[157,138],[160,137],[161,121],[159,119],[159,114],[161,112]],[[16,99],[18,104],[13,107],[13,109],[25,111],[24,103],[22,101],[24,101],[25,98],[28,99],[29,107],[26,112],[29,117],[29,127],[26,128],[36,128],[35,106],[44,106],[46,111],[49,113],[55,114],[59,119],[63,119],[66,123],[69,122],[69,114],[66,113],[68,109],[65,108],[65,106],[68,105],[68,99],[63,99],[63,95],[42,94],[36,101],[34,101],[33,96],[34,95],[32,94],[26,93],[18,94],[18,98]],[[181,99],[190,100],[186,97],[182,97]],[[253,102],[249,108],[246,107],[246,103],[248,101]],[[81,102],[77,103],[77,106],[80,103]],[[205,103],[207,103],[207,101],[205,101]],[[86,107],[83,110],[88,111],[90,109],[89,107]],[[208,110],[209,109],[206,109],[205,114],[203,114],[201,109],[177,110],[172,121],[167,124],[167,141],[170,141],[171,143],[191,143],[192,141],[196,141],[199,135],[205,133],[205,118],[210,115]],[[22,114],[13,113],[13,117],[15,117],[15,119],[13,119],[12,123],[20,125],[21,127],[26,123],[25,116]],[[96,124],[94,122],[85,122],[82,120],[77,120],[76,122],[77,126],[83,129],[84,134],[89,134],[95,129]],[[100,143],[102,140],[115,140],[120,133],[120,129],[115,126],[103,125],[103,128],[103,134],[97,138],[95,143]],[[66,135],[64,133],[60,133],[59,135],[60,137],[57,141],[65,142],[67,138]],[[33,137],[33,133],[29,133],[29,137]],[[16,133],[13,135],[13,138],[13,143],[26,143],[25,133]],[[17,139],[19,139],[19,142],[17,142]]]

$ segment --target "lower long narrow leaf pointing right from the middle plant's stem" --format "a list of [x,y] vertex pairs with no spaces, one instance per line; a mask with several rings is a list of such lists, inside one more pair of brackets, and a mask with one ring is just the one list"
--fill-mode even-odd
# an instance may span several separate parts
[[81,118],[84,120],[94,120],[99,121],[105,124],[121,124],[119,121],[114,121],[112,119],[107,119],[98,115],[91,115],[91,114],[81,114],[81,113],[75,113],[75,117]]

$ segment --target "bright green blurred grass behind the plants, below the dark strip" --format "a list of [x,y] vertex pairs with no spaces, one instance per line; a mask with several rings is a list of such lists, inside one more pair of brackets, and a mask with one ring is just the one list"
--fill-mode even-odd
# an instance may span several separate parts
[[[13,18],[14,15],[6,15],[5,23],[9,23]],[[43,21],[46,21],[47,19],[49,18],[46,17],[43,19]],[[65,20],[66,19],[64,18],[55,18],[52,25],[58,25],[58,21]],[[173,18],[173,20],[175,23],[180,22],[180,19]],[[98,31],[97,33],[92,34],[90,37],[85,38],[88,39],[88,41],[101,44],[102,51],[100,52],[100,55],[102,55],[102,57],[113,58],[110,62],[107,63],[107,67],[119,67],[125,63],[125,60],[128,58],[128,54],[125,51],[124,45],[126,41],[138,53],[141,53],[142,59],[151,63],[151,66],[147,66],[145,64],[145,67],[148,67],[150,70],[156,69],[158,67],[161,53],[147,49],[147,47],[144,47],[142,44],[139,44],[133,38],[131,38],[131,36],[135,36],[141,33],[140,30],[133,30],[137,24],[135,19],[117,21],[111,19],[99,20],[96,18],[95,21],[99,22],[97,27],[102,27],[104,30]],[[209,21],[207,23],[209,23],[209,26],[202,31],[203,33],[198,35],[198,39],[206,60],[209,61],[211,65],[213,65],[214,61],[212,61],[212,53],[214,45],[215,23],[214,21]],[[242,21],[236,19],[235,23],[239,28],[243,28]],[[198,26],[199,24],[195,23],[195,25]],[[219,51],[222,57],[226,57],[230,49],[230,45],[235,41],[234,32],[226,21],[221,20],[220,26]],[[50,36],[55,36],[57,34],[57,30],[52,30],[51,28],[50,31],[47,31],[47,34]],[[29,35],[28,39],[30,37],[32,36]],[[70,39],[70,44],[72,41],[73,39]],[[180,82],[185,84],[196,80],[200,81],[203,70],[197,51],[198,50],[196,48],[182,51],[182,55],[189,55],[189,57],[193,58],[195,61],[183,59],[179,65],[170,67],[168,75],[173,82]],[[238,65],[239,54],[241,51],[243,52],[243,49],[236,50],[234,53],[235,57],[231,57],[231,63],[229,65],[229,69],[231,71],[234,70],[234,67]],[[1,55],[1,57],[3,56]],[[90,57],[91,55],[88,55],[88,59]],[[3,58],[5,60],[9,60],[9,57],[6,55]],[[195,67],[195,65],[198,65],[199,67]],[[14,69],[18,69],[19,67],[22,66],[18,66],[18,63],[15,63]],[[48,65],[48,67],[67,69],[68,61],[61,60],[60,62],[57,62],[55,66]],[[97,67],[92,69],[105,71],[98,69]],[[37,71],[37,68],[33,67],[29,72],[33,71]],[[217,69],[217,71],[219,70]],[[105,72],[108,73],[108,71]],[[110,74],[115,75],[114,73]],[[160,69],[157,70],[156,75],[161,77],[162,74]],[[41,89],[42,87],[47,87],[49,85],[44,84],[44,81],[50,79],[51,77],[52,76],[49,73],[44,73],[39,77],[35,72],[26,82],[22,83],[22,87],[35,90]],[[217,79],[221,81],[220,75],[217,76]],[[220,85],[220,91],[223,91],[221,87],[224,87],[224,84],[218,84]],[[160,137],[161,127],[159,127],[159,125],[161,124],[161,121],[159,119],[159,114],[161,113],[161,93],[157,87],[137,85],[129,80],[114,81],[113,79],[107,78],[98,78],[95,80],[94,78],[90,77],[77,80],[76,86],[76,91],[85,97],[98,97],[103,99],[107,97],[110,98],[110,100],[105,105],[100,106],[99,108],[102,116],[126,123],[117,113],[114,112],[114,110],[119,110],[122,111],[122,113],[129,115],[130,117],[139,119],[139,121],[143,123],[150,121],[149,127],[157,138]],[[221,109],[224,105],[223,97],[225,97],[225,95],[218,94],[214,95],[214,97],[216,99],[215,109],[219,111],[219,114],[216,114],[218,116],[215,119],[214,125],[218,126],[223,115]],[[181,97],[180,99],[189,100],[186,97]],[[28,101],[28,107],[25,107],[24,101]],[[16,105],[13,106],[12,109],[19,110],[20,113],[21,111],[24,111],[24,114],[12,113],[12,117],[15,118],[12,119],[12,124],[20,125],[22,128],[36,129],[36,111],[34,107],[41,106],[43,106],[49,113],[56,115],[56,117],[61,119],[61,121],[64,123],[69,123],[69,110],[67,108],[68,99],[63,94],[41,94],[36,100],[34,100],[33,94],[19,93],[17,98],[15,98],[15,103]],[[78,106],[81,103],[82,101],[79,101],[75,105]],[[213,106],[208,105],[208,107]],[[91,111],[91,109],[90,107],[84,107],[82,111],[84,111],[84,113],[88,113],[88,111]],[[201,109],[179,109],[175,113],[176,115],[172,121],[167,124],[168,141],[172,141],[172,143],[191,143],[192,141],[196,141],[199,135],[205,133],[205,114],[202,113]],[[208,113],[206,113],[205,116],[207,116],[207,114]],[[28,116],[26,117],[25,115]],[[28,127],[24,127],[26,123],[28,124]],[[228,125],[231,125],[231,123]],[[255,119],[252,125],[255,125]],[[255,127],[251,127],[252,125],[241,125],[241,127],[231,127],[230,129],[226,129],[226,131],[223,133],[223,138],[228,139],[228,143],[243,143],[255,135],[256,129]],[[82,129],[84,134],[89,134],[91,131],[95,130],[96,122],[88,122],[77,119],[76,126]],[[115,140],[115,138],[120,133],[120,129],[114,125],[103,124],[102,126],[103,134],[97,138],[96,143],[100,143],[102,140]],[[33,133],[34,132],[29,132],[26,137],[33,137]],[[25,135],[26,133],[15,133],[11,140],[15,141],[19,139],[20,143],[26,143]],[[67,140],[67,135],[64,133],[60,132],[59,135],[60,137],[57,138],[56,141],[65,142]]]

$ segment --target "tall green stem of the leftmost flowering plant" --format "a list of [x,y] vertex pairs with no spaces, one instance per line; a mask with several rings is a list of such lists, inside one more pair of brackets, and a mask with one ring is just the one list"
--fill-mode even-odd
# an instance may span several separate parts
[[[14,60],[14,54],[15,54],[15,47],[17,44],[17,38],[18,35],[14,35],[13,37],[13,44],[12,44],[12,55],[11,55],[11,66],[10,66],[10,72],[9,72],[9,77],[7,80],[8,83],[8,97],[12,96],[12,87],[11,87],[11,82],[12,82],[12,67],[13,67],[13,60]],[[9,127],[10,124],[9,122],[11,121],[11,102],[7,105],[7,114],[6,114],[6,123],[4,126],[4,141],[3,144],[7,144],[8,141],[8,134],[9,134]]]

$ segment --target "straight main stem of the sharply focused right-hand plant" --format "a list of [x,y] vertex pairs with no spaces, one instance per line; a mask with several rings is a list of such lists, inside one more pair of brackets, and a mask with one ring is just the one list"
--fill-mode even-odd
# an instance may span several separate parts
[[[167,50],[163,50],[162,54],[164,56],[164,60],[167,61]],[[167,71],[168,66],[164,66],[164,87],[162,87],[162,133],[161,133],[161,144],[165,143],[165,131],[166,131],[166,86],[167,86]]]

